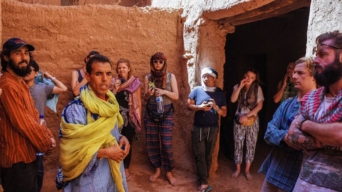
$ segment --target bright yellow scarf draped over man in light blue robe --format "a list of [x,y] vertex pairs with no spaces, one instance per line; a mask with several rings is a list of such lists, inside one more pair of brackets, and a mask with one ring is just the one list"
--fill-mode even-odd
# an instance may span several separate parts
[[[60,163],[64,181],[78,177],[99,150],[119,145],[110,133],[116,122],[123,125],[119,104],[112,92],[107,91],[108,102],[98,98],[89,86],[81,88],[80,97],[87,109],[87,125],[66,123],[62,117],[60,143]],[[91,113],[98,114],[95,121]],[[120,163],[108,158],[111,175],[119,192],[125,192],[120,173]]]

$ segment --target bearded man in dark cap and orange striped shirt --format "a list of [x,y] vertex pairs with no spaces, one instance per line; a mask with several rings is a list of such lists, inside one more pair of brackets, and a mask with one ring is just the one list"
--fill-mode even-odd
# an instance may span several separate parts
[[0,54],[0,173],[5,192],[36,192],[36,152],[50,152],[56,142],[50,130],[39,125],[28,86],[30,51],[35,48],[19,38],[7,40]]

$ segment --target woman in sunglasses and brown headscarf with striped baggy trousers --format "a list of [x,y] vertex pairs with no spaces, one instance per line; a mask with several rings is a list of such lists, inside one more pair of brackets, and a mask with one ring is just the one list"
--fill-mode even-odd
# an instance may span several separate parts
[[[147,153],[155,172],[149,180],[153,182],[161,175],[161,167],[166,171],[166,176],[172,186],[177,185],[171,171],[174,167],[172,153],[172,100],[178,100],[178,88],[176,78],[171,72],[167,72],[166,57],[157,52],[150,58],[150,74],[145,77],[144,100],[147,101],[144,124],[146,128]],[[155,86],[153,86],[155,85]],[[164,112],[157,112],[156,97],[162,95]],[[152,114],[161,115],[163,118],[153,118]],[[161,147],[159,146],[159,136]]]

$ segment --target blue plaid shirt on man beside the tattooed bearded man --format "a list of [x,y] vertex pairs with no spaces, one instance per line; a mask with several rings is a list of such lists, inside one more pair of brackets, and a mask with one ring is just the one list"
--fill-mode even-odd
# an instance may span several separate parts
[[259,169],[260,173],[266,174],[266,181],[287,192],[292,192],[295,187],[303,158],[301,151],[290,148],[282,141],[299,113],[297,98],[285,100],[268,123],[264,139],[273,148]]

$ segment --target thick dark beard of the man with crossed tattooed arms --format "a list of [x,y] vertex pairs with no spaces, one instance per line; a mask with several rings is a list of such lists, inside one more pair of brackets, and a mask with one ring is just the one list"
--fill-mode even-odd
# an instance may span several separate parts
[[314,77],[316,83],[321,86],[329,86],[342,78],[342,63],[340,58],[335,55],[335,60],[327,64],[324,69],[320,65],[316,65],[316,68],[321,68],[321,73],[315,70]]

